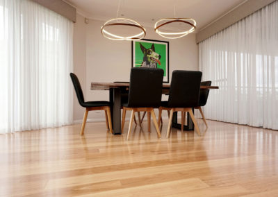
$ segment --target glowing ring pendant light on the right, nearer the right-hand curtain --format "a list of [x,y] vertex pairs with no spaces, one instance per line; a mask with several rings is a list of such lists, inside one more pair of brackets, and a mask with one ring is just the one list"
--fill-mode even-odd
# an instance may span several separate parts
[[[180,32],[165,32],[161,31],[160,28],[170,24],[170,23],[183,23],[183,24],[188,24],[191,26],[191,28],[188,31],[180,31]],[[160,19],[156,24],[154,24],[154,31],[158,33],[158,35],[161,35],[162,37],[168,38],[168,39],[176,39],[179,37],[183,37],[188,35],[189,33],[192,33],[195,31],[196,28],[196,22],[194,19],[190,18],[165,18],[165,19]]]

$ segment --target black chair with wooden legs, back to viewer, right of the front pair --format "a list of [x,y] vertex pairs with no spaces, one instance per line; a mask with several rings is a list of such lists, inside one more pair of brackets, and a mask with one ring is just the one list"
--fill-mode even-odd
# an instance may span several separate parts
[[158,126],[162,110],[170,110],[167,137],[170,135],[174,112],[189,112],[197,134],[200,135],[193,108],[199,104],[199,91],[202,78],[200,71],[173,71],[168,101],[162,101],[158,114]]

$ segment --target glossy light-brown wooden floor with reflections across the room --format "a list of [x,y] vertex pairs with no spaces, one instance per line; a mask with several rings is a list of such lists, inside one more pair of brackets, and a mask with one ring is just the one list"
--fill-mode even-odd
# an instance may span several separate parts
[[[147,121],[0,135],[0,196],[278,196],[278,131],[197,120],[202,136]],[[127,122],[126,122],[127,125]]]

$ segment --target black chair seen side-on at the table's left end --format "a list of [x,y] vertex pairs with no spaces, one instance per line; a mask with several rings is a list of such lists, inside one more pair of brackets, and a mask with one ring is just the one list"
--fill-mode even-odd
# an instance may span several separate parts
[[84,128],[88,117],[88,112],[92,110],[104,110],[105,111],[105,119],[106,119],[106,128],[113,133],[112,130],[112,121],[111,121],[111,112],[110,112],[110,103],[108,101],[84,101],[83,91],[81,85],[79,83],[79,79],[73,73],[70,74],[70,78],[72,78],[72,83],[74,85],[74,90],[79,101],[79,104],[85,108],[85,113],[83,117],[83,123],[81,127],[80,135],[84,134]]

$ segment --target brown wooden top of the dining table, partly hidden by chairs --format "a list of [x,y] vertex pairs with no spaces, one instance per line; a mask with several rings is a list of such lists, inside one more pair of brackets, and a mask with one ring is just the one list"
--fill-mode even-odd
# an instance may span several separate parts
[[[117,88],[117,87],[129,87],[129,83],[98,83],[92,82],[91,83],[91,90],[104,90],[110,88]],[[163,84],[163,89],[169,89],[170,84]],[[204,86],[201,85],[201,89],[219,89],[218,86]]]

